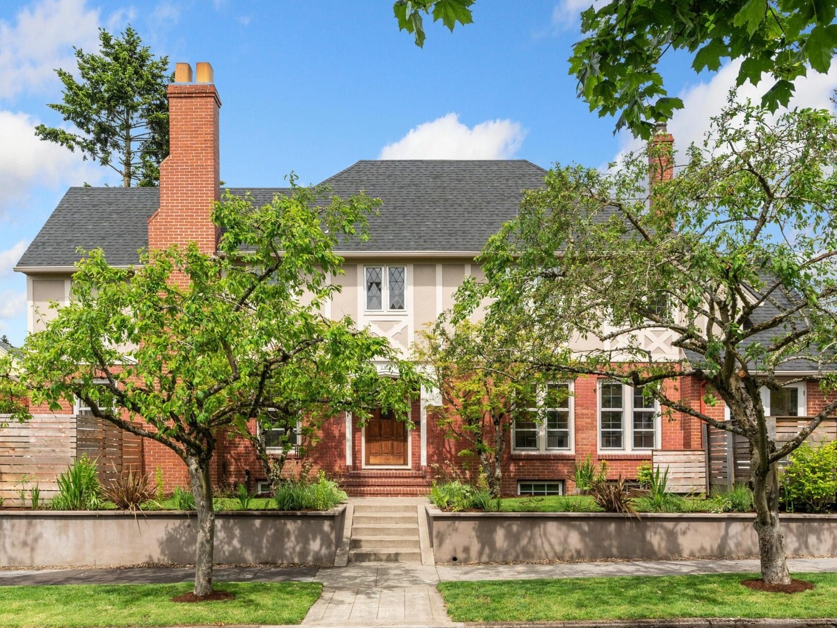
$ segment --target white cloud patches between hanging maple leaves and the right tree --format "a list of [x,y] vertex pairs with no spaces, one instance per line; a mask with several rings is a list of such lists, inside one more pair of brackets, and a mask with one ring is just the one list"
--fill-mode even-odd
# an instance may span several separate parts
[[[709,131],[711,117],[721,112],[727,105],[727,94],[735,88],[737,99],[744,101],[750,98],[754,103],[761,101],[765,91],[773,85],[770,77],[765,77],[758,85],[749,82],[741,87],[735,87],[738,69],[741,61],[733,61],[723,65],[710,80],[688,85],[680,90],[683,109],[677,111],[668,122],[668,130],[675,138],[675,149],[683,155],[686,148],[695,142],[701,145],[706,131]],[[830,96],[837,88],[837,62],[831,65],[828,74],[818,74],[809,70],[809,75],[799,78],[795,82],[796,90],[791,98],[789,107],[814,107],[818,109],[833,109]],[[778,113],[783,111],[780,109]],[[642,140],[631,136],[628,132],[621,134],[619,155],[614,161],[619,161],[628,152],[642,147]],[[680,161],[680,160],[678,160]]]

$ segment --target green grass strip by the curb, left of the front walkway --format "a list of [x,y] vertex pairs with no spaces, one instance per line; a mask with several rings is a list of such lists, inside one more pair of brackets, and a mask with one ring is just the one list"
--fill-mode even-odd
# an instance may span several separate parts
[[320,597],[316,582],[229,582],[216,589],[235,600],[170,601],[192,584],[67,584],[0,586],[0,625],[158,626],[299,624]]

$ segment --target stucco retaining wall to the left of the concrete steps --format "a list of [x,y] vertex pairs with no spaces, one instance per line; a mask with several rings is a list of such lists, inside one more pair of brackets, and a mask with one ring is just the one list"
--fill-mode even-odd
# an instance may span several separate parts
[[[346,506],[218,512],[215,562],[334,564]],[[0,565],[195,562],[194,512],[0,512]]]

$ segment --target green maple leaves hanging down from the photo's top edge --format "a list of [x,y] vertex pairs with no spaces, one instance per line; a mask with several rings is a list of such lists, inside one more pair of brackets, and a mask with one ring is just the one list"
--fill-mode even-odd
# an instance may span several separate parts
[[[414,33],[424,45],[421,13],[434,19],[471,23],[465,0],[398,0],[398,27]],[[616,131],[628,128],[648,138],[655,122],[668,120],[683,108],[670,97],[660,75],[666,53],[690,54],[696,72],[716,70],[723,59],[742,59],[737,85],[757,85],[767,75],[772,85],[762,104],[771,111],[787,106],[793,80],[809,68],[829,71],[837,49],[837,3],[805,0],[612,0],[581,13],[587,37],[573,46],[570,74],[578,79],[578,95],[599,116],[619,116]],[[437,15],[438,13],[438,15]]]

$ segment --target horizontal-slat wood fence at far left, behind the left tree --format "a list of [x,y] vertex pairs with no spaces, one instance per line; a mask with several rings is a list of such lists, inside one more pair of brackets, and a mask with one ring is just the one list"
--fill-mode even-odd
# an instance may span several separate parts
[[142,439],[90,415],[35,415],[25,423],[0,416],[0,497],[17,506],[18,492],[38,486],[41,498],[58,492],[58,476],[77,457],[98,461],[101,481],[142,468]]

